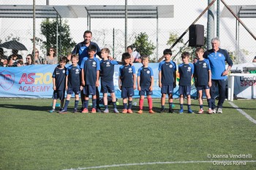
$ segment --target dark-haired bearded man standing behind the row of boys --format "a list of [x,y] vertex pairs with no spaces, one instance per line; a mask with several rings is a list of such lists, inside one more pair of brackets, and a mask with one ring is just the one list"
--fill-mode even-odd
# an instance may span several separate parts
[[[92,37],[92,33],[91,31],[85,31],[83,33],[83,42],[78,43],[78,45],[75,45],[74,50],[72,51],[72,54],[78,54],[79,56],[79,61],[78,61],[78,65],[81,66],[81,63],[83,61],[83,58],[85,57],[89,57],[88,54],[88,47],[89,45],[94,45],[95,47],[97,47],[97,51],[96,54],[99,56],[99,58],[101,58],[101,50],[99,48],[99,46],[97,45],[96,42],[91,42],[91,37]],[[97,95],[97,112],[101,112],[101,110],[99,109],[99,90],[97,88],[96,90],[96,95]],[[81,92],[81,101],[82,101],[82,106],[84,106],[84,96],[83,96],[83,92]],[[83,109],[83,108],[82,108]]]

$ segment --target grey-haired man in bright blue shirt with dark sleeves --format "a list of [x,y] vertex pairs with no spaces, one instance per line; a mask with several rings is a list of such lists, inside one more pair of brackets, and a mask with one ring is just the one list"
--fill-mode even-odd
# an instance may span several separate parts
[[[225,93],[226,93],[226,80],[227,74],[233,66],[233,61],[228,55],[227,50],[221,49],[219,47],[220,42],[219,38],[215,37],[211,39],[211,50],[207,50],[203,54],[203,58],[207,58],[210,61],[211,66],[211,107],[214,113],[222,113],[222,104],[225,101]],[[227,62],[227,69],[225,67],[225,63]],[[219,101],[216,107],[215,105],[215,97],[217,88],[219,88]]]

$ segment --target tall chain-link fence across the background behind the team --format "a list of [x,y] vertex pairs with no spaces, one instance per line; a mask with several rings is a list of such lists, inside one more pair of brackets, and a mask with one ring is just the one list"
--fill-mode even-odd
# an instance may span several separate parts
[[[4,5],[30,5],[32,7],[33,1],[18,1],[18,0],[0,0],[2,6]],[[141,32],[145,32],[148,35],[148,41],[151,42],[156,48],[154,53],[150,55],[151,59],[157,61],[158,58],[162,56],[162,51],[165,48],[170,48],[170,44],[167,42],[170,35],[181,36],[184,31],[189,28],[192,22],[203,12],[208,6],[208,1],[204,0],[162,0],[162,1],[151,1],[151,0],[128,0],[127,5],[173,5],[173,18],[128,18],[127,19],[127,45],[132,45],[135,42],[135,36],[138,36]],[[229,6],[242,5],[242,6],[253,6],[256,4],[255,0],[225,0],[225,3]],[[91,6],[91,5],[124,5],[125,0],[113,0],[113,1],[64,1],[64,0],[37,0],[36,6],[48,4],[50,7],[59,6],[59,11],[61,6],[63,6],[62,12],[72,12],[65,11],[68,9],[68,5],[75,5],[80,7]],[[216,9],[217,5],[214,4]],[[224,5],[220,1],[220,12],[224,9]],[[55,8],[54,8],[55,9]],[[17,9],[18,10],[18,9]],[[79,8],[78,8],[79,10]],[[256,11],[256,6],[255,9]],[[19,42],[23,43],[28,49],[28,51],[20,51],[19,53],[23,55],[23,58],[27,54],[32,53],[33,43],[33,18],[23,18],[20,11],[20,15],[16,18],[11,18],[10,15],[4,14],[4,9],[1,7],[1,43],[7,42],[10,39],[18,39]],[[79,12],[79,11],[78,11]],[[7,12],[8,13],[8,12]],[[46,13],[46,12],[45,12]],[[50,11],[49,11],[50,13]],[[252,62],[252,59],[256,55],[256,41],[246,31],[246,28],[241,24],[238,24],[236,18],[231,16],[230,18],[219,18],[219,37],[221,39],[221,47],[225,48],[230,52],[235,63],[245,63]],[[255,25],[255,15],[249,15],[246,18],[240,18],[241,21],[252,31],[252,34],[256,35],[256,25]],[[48,29],[45,34],[42,33],[42,23],[46,20],[53,22],[58,20],[58,27],[53,31]],[[216,15],[215,15],[216,20]],[[93,32],[93,42],[97,42],[99,47],[108,47],[111,50],[111,55],[116,59],[121,59],[121,54],[125,51],[125,19],[124,18],[36,18],[35,24],[35,34],[37,40],[37,49],[39,49],[39,54],[44,57],[47,54],[47,49],[49,46],[49,36],[54,34],[54,39],[59,39],[59,41],[51,42],[53,44],[48,44],[50,46],[55,46],[59,48],[59,56],[66,55],[72,50],[72,46],[78,42],[83,41],[83,32],[87,29],[91,29]],[[89,25],[90,23],[90,25]],[[207,12],[197,21],[197,24],[204,26],[207,29]],[[66,28],[65,28],[66,26]],[[48,26],[50,28],[50,26]],[[215,29],[217,27],[215,26]],[[65,30],[67,29],[67,30]],[[66,34],[66,31],[70,35]],[[216,32],[216,31],[215,31]],[[59,37],[56,37],[56,34]],[[215,34],[216,35],[216,34]],[[61,39],[60,37],[70,36],[71,39]],[[206,34],[205,34],[206,36]],[[180,62],[181,48],[189,40],[189,32],[185,34],[182,41],[179,42],[173,48],[173,55],[176,56],[175,61]],[[188,45],[188,44],[187,44]],[[61,47],[60,47],[61,46]],[[191,50],[191,49],[190,49]],[[10,55],[11,51],[4,49],[5,55]]]

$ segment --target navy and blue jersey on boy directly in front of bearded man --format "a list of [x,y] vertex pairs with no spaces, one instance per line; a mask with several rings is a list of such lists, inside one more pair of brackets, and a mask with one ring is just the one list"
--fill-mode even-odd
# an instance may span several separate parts
[[80,66],[84,72],[86,85],[95,85],[97,80],[97,71],[100,70],[98,58],[83,58]]

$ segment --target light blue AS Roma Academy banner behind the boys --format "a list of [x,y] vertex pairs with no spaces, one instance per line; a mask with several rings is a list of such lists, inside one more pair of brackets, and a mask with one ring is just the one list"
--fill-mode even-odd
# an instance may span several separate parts
[[[158,86],[158,65],[159,63],[148,64],[154,72],[153,98],[161,97],[161,89]],[[0,97],[51,98],[53,95],[52,74],[56,66],[42,64],[21,67],[0,67]],[[113,75],[117,98],[121,98],[121,90],[118,88],[119,66],[115,66]],[[138,69],[142,64],[134,63],[134,66],[137,76]],[[177,74],[177,86],[173,90],[174,98],[178,98],[178,80],[179,77]],[[139,98],[138,93],[136,89],[135,98]],[[197,96],[193,83],[191,95],[192,97]]]

